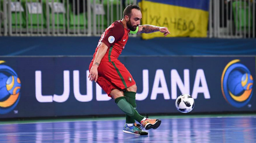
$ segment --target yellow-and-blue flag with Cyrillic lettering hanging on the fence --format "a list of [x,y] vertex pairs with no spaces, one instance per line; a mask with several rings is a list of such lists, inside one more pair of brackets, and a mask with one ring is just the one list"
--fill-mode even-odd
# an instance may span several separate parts
[[[210,0],[141,0],[142,25],[168,27],[167,37],[206,37]],[[143,39],[163,33],[142,34]]]

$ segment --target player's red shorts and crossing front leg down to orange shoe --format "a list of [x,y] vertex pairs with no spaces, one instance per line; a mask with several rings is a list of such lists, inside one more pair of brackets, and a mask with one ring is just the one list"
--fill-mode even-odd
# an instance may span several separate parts
[[[99,76],[97,83],[108,95],[115,99],[115,102],[117,103],[118,107],[125,114],[137,120],[146,129],[156,129],[157,127],[159,127],[161,123],[160,120],[144,118],[143,116],[138,114],[134,107],[126,101],[124,93],[121,90],[118,90],[126,89],[126,91],[134,92],[133,97],[135,97],[137,89],[136,83],[133,80],[132,75],[120,61],[102,61],[101,65],[98,68],[98,74]],[[135,98],[131,101],[134,101],[135,104]]]

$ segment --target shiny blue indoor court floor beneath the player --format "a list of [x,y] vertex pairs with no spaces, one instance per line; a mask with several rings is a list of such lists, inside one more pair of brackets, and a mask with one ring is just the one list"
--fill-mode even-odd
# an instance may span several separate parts
[[[148,136],[122,132],[121,118],[13,121],[0,125],[1,143],[255,143],[256,116],[160,116]],[[15,123],[16,122],[16,123]],[[27,122],[27,123],[26,123]],[[29,123],[31,122],[31,123]]]

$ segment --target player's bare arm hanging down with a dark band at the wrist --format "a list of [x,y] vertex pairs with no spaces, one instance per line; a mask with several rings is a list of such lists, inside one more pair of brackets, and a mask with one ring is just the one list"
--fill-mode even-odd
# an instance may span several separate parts
[[90,78],[90,81],[92,81],[92,80],[94,80],[95,82],[97,81],[98,67],[99,67],[100,61],[102,60],[102,58],[106,54],[108,48],[109,47],[105,43],[102,42],[100,44],[100,46],[97,50],[97,53],[95,55],[92,68],[90,69],[90,74],[88,76],[88,78]]

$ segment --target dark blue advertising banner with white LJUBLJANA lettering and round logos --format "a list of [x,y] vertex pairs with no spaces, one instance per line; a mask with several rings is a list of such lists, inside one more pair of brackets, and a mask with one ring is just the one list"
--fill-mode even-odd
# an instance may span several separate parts
[[[88,77],[92,57],[0,57],[0,118],[123,114]],[[255,56],[129,56],[139,113],[178,113],[190,94],[191,113],[256,111]],[[104,109],[104,110],[103,110]]]

